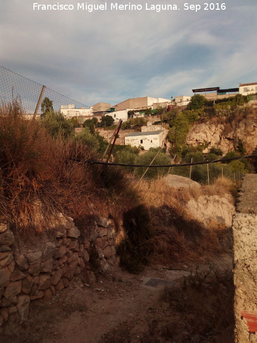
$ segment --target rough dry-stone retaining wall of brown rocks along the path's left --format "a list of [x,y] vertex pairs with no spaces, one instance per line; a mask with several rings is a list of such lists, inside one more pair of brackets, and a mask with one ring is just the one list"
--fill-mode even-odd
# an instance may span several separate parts
[[27,320],[31,301],[50,300],[72,278],[90,269],[93,245],[102,272],[119,264],[116,232],[107,218],[96,218],[86,235],[71,218],[60,214],[57,223],[48,235],[32,235],[26,241],[0,224],[0,334],[8,322]]

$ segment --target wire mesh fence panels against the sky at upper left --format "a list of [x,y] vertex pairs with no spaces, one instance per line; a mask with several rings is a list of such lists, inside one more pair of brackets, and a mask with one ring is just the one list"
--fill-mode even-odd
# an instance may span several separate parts
[[[26,114],[34,114],[38,103],[42,84],[32,81],[20,74],[15,73],[3,66],[0,66],[0,102],[10,103],[14,99],[21,101],[23,110]],[[90,115],[87,105],[76,100],[72,100],[52,89],[45,87],[41,102],[47,97],[52,101],[55,111],[61,112],[67,117]],[[38,114],[41,114],[41,102]]]

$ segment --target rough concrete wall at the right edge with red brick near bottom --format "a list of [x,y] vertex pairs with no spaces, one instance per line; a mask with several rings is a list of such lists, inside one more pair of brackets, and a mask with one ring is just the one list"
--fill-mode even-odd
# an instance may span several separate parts
[[257,174],[243,179],[232,228],[235,342],[257,342]]

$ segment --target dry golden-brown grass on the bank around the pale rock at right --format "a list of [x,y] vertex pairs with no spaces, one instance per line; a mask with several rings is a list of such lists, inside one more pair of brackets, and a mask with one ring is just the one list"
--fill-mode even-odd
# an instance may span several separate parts
[[156,263],[208,259],[211,254],[230,247],[230,231],[223,224],[212,221],[206,227],[186,208],[191,197],[197,200],[202,195],[222,197],[227,194],[226,197],[233,201],[227,193],[233,187],[229,179],[218,178],[211,186],[190,190],[171,188],[161,178],[149,182],[141,180],[136,187],[152,219]]

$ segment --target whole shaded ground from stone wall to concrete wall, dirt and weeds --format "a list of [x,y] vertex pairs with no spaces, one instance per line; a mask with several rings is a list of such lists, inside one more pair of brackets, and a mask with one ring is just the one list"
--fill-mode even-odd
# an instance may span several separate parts
[[[158,278],[171,287],[145,286]],[[232,258],[151,264],[137,275],[85,272],[50,301],[31,302],[6,343],[233,342]]]

